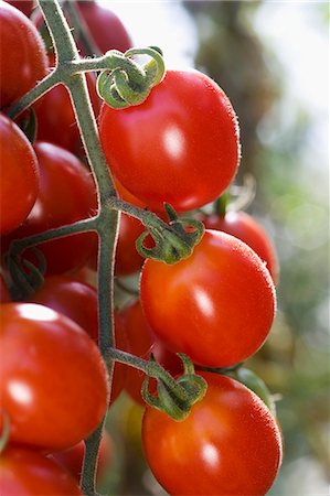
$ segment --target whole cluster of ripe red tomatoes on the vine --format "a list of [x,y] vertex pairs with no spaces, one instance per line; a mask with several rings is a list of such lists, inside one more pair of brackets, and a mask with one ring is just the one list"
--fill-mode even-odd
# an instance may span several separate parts
[[[206,227],[190,257],[167,265],[138,252],[136,240],[146,229],[139,219],[121,214],[119,222],[116,348],[141,364],[157,360],[174,378],[187,371],[178,356],[184,354],[207,384],[205,396],[177,421],[146,406],[143,371],[116,363],[109,378],[97,346],[99,294],[91,284],[91,273],[98,270],[95,233],[26,249],[20,276],[12,273],[11,241],[87,219],[99,205],[63,85],[33,104],[33,143],[19,120],[7,117],[8,108],[56,63],[35,28],[41,14],[33,15],[34,24],[29,19],[33,2],[22,4],[24,13],[10,3],[20,2],[0,0],[1,494],[82,494],[84,441],[121,391],[146,408],[146,460],[167,492],[265,494],[281,460],[276,420],[252,390],[216,370],[238,366],[265,343],[276,312],[278,273],[272,241],[255,219],[242,212],[220,216],[204,209],[231,186],[239,163],[239,132],[228,97],[198,71],[168,71],[142,104],[118,110],[102,103],[94,75],[87,76],[118,196],[166,222],[163,207],[170,204],[177,224],[199,211]],[[107,9],[93,1],[78,1],[77,9],[100,53],[131,46],[120,20]],[[79,40],[77,45],[85,54]],[[167,228],[173,225],[170,218]],[[147,246],[155,242],[146,238]],[[34,279],[28,273],[33,266],[43,271],[39,283],[38,271]],[[119,294],[123,284],[128,291],[125,277],[131,274],[139,274],[139,294],[123,304]],[[29,288],[20,287],[26,278]],[[150,380],[148,391],[157,398],[159,380]],[[111,456],[113,442],[104,431],[98,474]]]

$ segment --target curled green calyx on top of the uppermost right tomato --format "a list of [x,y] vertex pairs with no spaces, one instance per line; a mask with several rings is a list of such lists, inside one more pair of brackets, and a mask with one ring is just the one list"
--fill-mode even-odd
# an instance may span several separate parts
[[[151,60],[140,66],[131,58],[136,55],[148,55]],[[106,56],[111,68],[99,74],[97,93],[116,109],[142,104],[166,73],[161,52],[157,47],[130,48],[125,54],[113,50]]]

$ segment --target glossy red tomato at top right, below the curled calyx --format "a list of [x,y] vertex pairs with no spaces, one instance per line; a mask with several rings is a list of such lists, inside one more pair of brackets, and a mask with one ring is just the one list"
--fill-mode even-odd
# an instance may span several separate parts
[[178,212],[212,202],[238,166],[235,112],[198,71],[168,71],[141,105],[103,104],[99,131],[113,174],[151,211],[163,202]]

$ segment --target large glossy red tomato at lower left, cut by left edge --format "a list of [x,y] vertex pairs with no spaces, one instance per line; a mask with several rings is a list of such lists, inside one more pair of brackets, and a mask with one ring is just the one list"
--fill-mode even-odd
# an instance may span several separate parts
[[6,303],[0,347],[11,443],[64,450],[97,428],[108,401],[107,373],[77,324],[43,305]]

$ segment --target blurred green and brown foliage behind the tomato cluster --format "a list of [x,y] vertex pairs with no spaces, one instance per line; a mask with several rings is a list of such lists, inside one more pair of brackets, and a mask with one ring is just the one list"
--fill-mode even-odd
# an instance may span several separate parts
[[[284,464],[269,494],[317,496],[329,494],[330,474],[328,155],[318,141],[315,115],[292,98],[290,76],[275,46],[256,29],[267,3],[184,1],[182,7],[196,29],[195,67],[223,87],[238,114],[242,163],[236,183],[246,173],[256,179],[247,211],[273,238],[280,263],[275,325],[263,349],[246,363],[275,395],[285,440]],[[308,7],[326,37],[328,2]],[[327,53],[315,56],[324,65],[315,77],[327,78]],[[125,396],[110,411],[117,453],[106,485],[114,494],[164,494],[143,463],[141,412]]]

